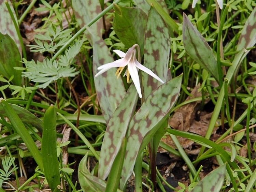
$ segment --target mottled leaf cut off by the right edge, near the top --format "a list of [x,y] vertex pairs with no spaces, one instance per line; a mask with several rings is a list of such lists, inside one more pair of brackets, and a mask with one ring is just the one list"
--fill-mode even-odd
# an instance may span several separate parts
[[242,48],[249,48],[254,46],[256,43],[256,8],[253,9],[252,13],[246,20],[244,27],[241,31],[237,50]]

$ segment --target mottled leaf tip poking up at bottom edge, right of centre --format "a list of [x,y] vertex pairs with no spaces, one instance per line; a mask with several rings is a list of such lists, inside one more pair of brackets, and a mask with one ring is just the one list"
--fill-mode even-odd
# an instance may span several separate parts
[[222,188],[225,178],[226,164],[214,169],[211,173],[205,176],[191,192],[219,192]]

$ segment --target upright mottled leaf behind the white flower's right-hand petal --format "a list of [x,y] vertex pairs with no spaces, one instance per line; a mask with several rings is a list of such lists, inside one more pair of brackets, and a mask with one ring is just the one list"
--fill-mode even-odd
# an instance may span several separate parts
[[[157,11],[151,8],[145,33],[144,65],[160,77],[163,82],[167,81],[169,55],[170,36],[168,28]],[[143,83],[145,97],[161,85],[158,80],[149,75],[143,76]]]

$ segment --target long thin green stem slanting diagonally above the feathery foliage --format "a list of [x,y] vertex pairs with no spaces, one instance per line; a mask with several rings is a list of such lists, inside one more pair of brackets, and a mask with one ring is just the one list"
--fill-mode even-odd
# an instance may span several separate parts
[[[116,0],[115,3],[119,3],[121,0]],[[87,25],[82,27],[79,31],[77,31],[72,38],[70,38],[65,45],[63,45],[57,53],[52,57],[52,61],[57,59],[57,57],[77,38],[79,37],[88,27],[93,25],[99,18],[101,18],[103,15],[108,13],[112,8],[114,7],[114,3],[109,5],[106,9],[104,9],[102,12],[100,12],[94,19],[92,19]]]

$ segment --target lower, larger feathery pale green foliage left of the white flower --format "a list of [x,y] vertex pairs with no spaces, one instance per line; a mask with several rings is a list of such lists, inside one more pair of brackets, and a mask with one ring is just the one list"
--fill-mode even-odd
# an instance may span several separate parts
[[33,82],[41,83],[37,87],[46,88],[50,83],[61,77],[74,77],[79,73],[76,68],[72,67],[75,56],[79,53],[83,41],[76,42],[65,55],[61,55],[59,60],[44,59],[43,62],[34,60],[27,61],[23,59],[27,71],[22,72],[24,77],[30,78]]

